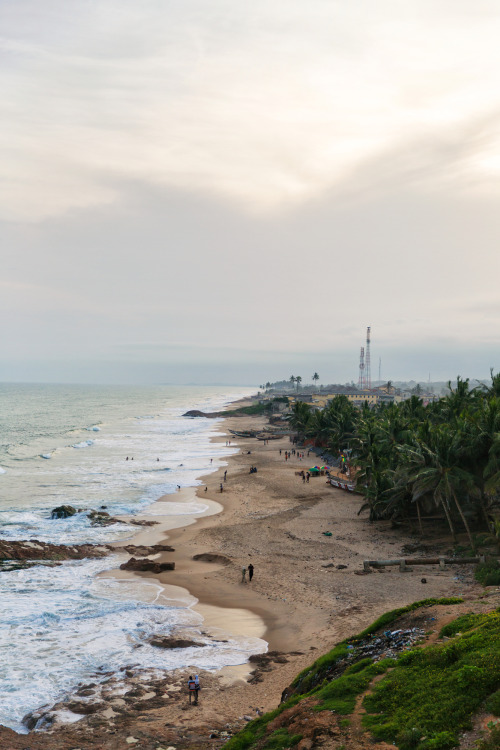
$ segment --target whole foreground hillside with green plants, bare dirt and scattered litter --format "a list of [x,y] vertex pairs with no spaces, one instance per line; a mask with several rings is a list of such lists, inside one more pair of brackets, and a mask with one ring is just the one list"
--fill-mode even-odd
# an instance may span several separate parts
[[[429,631],[415,628],[433,621],[436,607],[461,601],[429,599],[386,613],[301,672],[281,705],[250,722],[226,750],[350,750],[374,741],[399,750],[451,750],[481,711],[492,722],[477,748],[498,749],[500,608],[452,617],[432,643]],[[388,648],[394,642],[400,647]]]

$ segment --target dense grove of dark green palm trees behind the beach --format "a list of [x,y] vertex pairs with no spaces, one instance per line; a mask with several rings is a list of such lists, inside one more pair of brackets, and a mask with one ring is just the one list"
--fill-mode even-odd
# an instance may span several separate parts
[[416,395],[399,404],[355,407],[344,395],[322,410],[293,405],[292,426],[303,438],[337,454],[352,450],[357,490],[370,520],[441,515],[453,540],[465,530],[500,537],[492,520],[500,484],[500,374],[490,386],[448,384],[448,394],[424,406]]

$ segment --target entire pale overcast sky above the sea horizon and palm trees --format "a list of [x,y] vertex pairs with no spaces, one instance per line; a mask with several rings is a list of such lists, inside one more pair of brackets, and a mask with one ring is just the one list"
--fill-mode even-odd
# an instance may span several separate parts
[[0,380],[500,369],[497,0],[1,0]]

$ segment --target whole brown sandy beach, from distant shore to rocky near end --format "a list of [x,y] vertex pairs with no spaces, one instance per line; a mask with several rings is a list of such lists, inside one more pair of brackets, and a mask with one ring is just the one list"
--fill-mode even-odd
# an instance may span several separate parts
[[[175,570],[132,575],[144,584],[161,584],[171,600],[195,597],[198,603],[193,609],[203,615],[204,632],[214,640],[219,637],[223,642],[221,633],[260,638],[268,644],[270,656],[256,655],[250,663],[220,671],[200,671],[198,706],[188,704],[189,669],[148,677],[152,687],[147,691],[130,665],[129,679],[138,693],[135,703],[115,694],[107,703],[101,692],[95,712],[74,724],[59,725],[50,734],[31,734],[28,744],[33,750],[80,746],[113,750],[127,746],[127,737],[137,740],[129,744],[145,750],[168,743],[219,747],[221,732],[232,733],[248,717],[275,708],[298,672],[383,612],[428,597],[467,596],[477,590],[470,572],[463,569],[457,574],[453,568],[424,566],[409,573],[386,568],[364,574],[364,559],[410,556],[412,550],[422,549],[419,538],[388,523],[370,524],[367,514],[358,515],[361,498],[331,487],[324,476],[303,482],[297,472],[314,465],[316,456],[308,457],[306,449],[303,459],[292,455],[285,460],[285,451],[292,448],[288,436],[265,444],[229,432],[265,424],[263,417],[230,416],[219,425],[224,434],[213,440],[226,444],[230,440],[228,448],[237,447],[237,452],[226,458],[226,466],[208,474],[206,483],[161,498],[155,507],[160,523],[142,529],[133,540],[171,545],[174,551],[151,559],[175,562]],[[250,467],[257,472],[250,472]],[[168,515],[169,503],[190,501],[194,494],[208,505],[206,514],[194,523],[180,517],[177,528],[164,528],[158,515],[161,504]],[[242,568],[250,563],[253,580],[249,582],[247,575],[242,582]],[[27,746],[25,736],[9,733],[6,738],[2,747]],[[188,741],[201,744],[183,745]]]

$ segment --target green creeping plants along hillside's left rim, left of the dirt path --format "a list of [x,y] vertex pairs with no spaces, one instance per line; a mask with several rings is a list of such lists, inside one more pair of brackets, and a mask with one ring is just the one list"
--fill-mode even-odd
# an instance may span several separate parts
[[[377,674],[385,672],[392,664],[393,660],[386,659],[373,663],[371,659],[361,659],[353,664],[347,664],[337,678],[329,676],[332,670],[338,668],[350,654],[354,653],[353,646],[362,640],[362,637],[369,635],[382,627],[389,625],[397,620],[402,614],[411,612],[419,607],[439,605],[439,604],[458,604],[462,599],[425,599],[421,602],[415,602],[407,607],[388,612],[373,623],[369,628],[363,631],[363,634],[349,638],[339,643],[332,651],[320,656],[314,664],[303,670],[294,680],[293,685],[296,688],[296,694],[291,696],[285,703],[282,703],[277,709],[264,716],[255,719],[247,724],[243,731],[232,737],[224,746],[225,750],[250,750],[259,747],[261,750],[271,750],[271,748],[293,747],[292,741],[298,743],[300,736],[290,737],[285,735],[284,730],[277,730],[272,735],[265,738],[268,724],[279,716],[287,708],[291,708],[300,702],[306,695],[314,695],[318,699],[317,711],[330,710],[338,714],[346,715],[352,712],[358,695],[366,690],[366,687]],[[289,744],[283,745],[263,745],[263,742],[279,742],[285,738]]]

